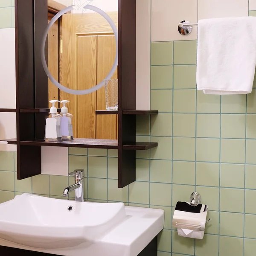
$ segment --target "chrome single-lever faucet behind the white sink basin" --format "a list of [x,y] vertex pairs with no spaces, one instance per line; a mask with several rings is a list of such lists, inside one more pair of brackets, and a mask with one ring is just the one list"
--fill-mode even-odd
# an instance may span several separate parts
[[68,196],[69,192],[75,190],[75,201],[76,202],[84,202],[83,189],[84,189],[84,178],[83,178],[84,170],[79,169],[75,170],[75,172],[69,173],[69,176],[75,176],[75,184],[69,186],[64,189],[63,195]]

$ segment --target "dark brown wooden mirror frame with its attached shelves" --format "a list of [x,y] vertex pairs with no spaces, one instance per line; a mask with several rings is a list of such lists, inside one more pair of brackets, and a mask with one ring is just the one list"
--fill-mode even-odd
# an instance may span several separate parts
[[[136,110],[136,0],[118,0],[118,140],[75,139],[45,142],[45,114],[48,108],[48,77],[41,64],[40,47],[47,26],[47,0],[15,0],[17,178],[41,174],[41,146],[118,149],[118,186],[135,181],[136,150],[157,147],[157,143],[136,142],[136,115],[158,111]],[[109,111],[96,111],[110,114]]]

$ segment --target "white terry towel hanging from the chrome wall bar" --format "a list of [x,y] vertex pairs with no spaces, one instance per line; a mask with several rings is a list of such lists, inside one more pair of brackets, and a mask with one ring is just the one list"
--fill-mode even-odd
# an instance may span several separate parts
[[199,20],[197,88],[206,94],[252,92],[256,17]]

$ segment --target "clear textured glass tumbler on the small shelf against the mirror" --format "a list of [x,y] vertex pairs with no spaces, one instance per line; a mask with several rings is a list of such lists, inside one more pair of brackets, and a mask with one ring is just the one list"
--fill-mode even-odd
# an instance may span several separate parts
[[118,109],[118,79],[105,79],[106,108]]

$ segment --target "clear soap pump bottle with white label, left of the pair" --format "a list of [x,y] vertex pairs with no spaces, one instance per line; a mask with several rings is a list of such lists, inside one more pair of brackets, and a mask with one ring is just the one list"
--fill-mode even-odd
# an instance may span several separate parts
[[50,114],[46,118],[45,126],[45,141],[62,141],[61,137],[61,115],[57,113],[57,108],[55,108],[55,103],[58,100],[51,100],[52,108],[50,108]]

